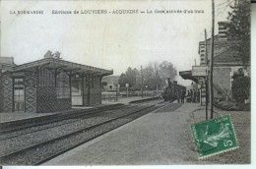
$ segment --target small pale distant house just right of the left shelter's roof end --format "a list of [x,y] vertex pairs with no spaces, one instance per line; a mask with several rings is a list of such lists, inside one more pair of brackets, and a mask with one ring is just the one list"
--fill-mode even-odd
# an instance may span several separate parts
[[119,91],[120,85],[118,84],[119,76],[107,76],[103,77],[101,81],[102,91],[104,92],[116,92]]

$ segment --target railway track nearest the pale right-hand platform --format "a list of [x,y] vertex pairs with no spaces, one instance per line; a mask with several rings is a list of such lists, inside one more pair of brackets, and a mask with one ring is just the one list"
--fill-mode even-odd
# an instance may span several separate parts
[[[96,137],[110,132],[124,124],[127,124],[164,104],[137,104],[125,108],[114,109],[117,113],[98,113],[96,123],[80,126],[73,131],[63,133],[45,141],[28,143],[20,149],[9,149],[0,156],[3,165],[39,165],[47,160],[64,153],[82,143],[91,141]],[[116,115],[118,114],[118,115]],[[96,117],[92,117],[96,118]],[[83,120],[82,120],[83,121]],[[74,122],[73,122],[74,123]],[[45,129],[47,131],[47,129]],[[49,131],[47,131],[49,132]],[[19,137],[18,137],[19,138]],[[25,137],[26,138],[26,137]],[[11,141],[11,140],[9,140]],[[18,140],[16,140],[18,141]],[[0,142],[1,143],[1,142]],[[16,144],[16,146],[19,143]],[[16,147],[14,146],[14,147]],[[9,146],[10,147],[10,146]]]

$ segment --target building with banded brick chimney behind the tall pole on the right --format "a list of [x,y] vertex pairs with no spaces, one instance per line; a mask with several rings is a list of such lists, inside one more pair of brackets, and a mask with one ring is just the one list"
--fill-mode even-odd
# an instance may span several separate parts
[[[237,74],[249,76],[248,65],[242,62],[242,56],[227,33],[226,22],[219,22],[219,34],[215,35],[214,49],[214,85],[216,88],[229,92]],[[207,44],[207,47],[205,47]],[[207,53],[206,53],[207,51]],[[206,65],[211,56],[211,38],[199,42],[200,65]],[[209,60],[209,59],[208,59]]]

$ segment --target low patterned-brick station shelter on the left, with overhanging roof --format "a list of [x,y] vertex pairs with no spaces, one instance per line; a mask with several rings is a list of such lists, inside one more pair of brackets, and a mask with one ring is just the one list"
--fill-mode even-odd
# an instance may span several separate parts
[[22,65],[0,57],[0,112],[49,113],[101,104],[101,79],[113,71],[68,62],[59,54],[48,51]]

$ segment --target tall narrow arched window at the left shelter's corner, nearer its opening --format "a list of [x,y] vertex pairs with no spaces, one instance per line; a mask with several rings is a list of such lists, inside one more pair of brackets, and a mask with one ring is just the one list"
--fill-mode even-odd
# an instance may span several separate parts
[[65,72],[57,75],[57,98],[70,98],[70,82],[69,76]]

